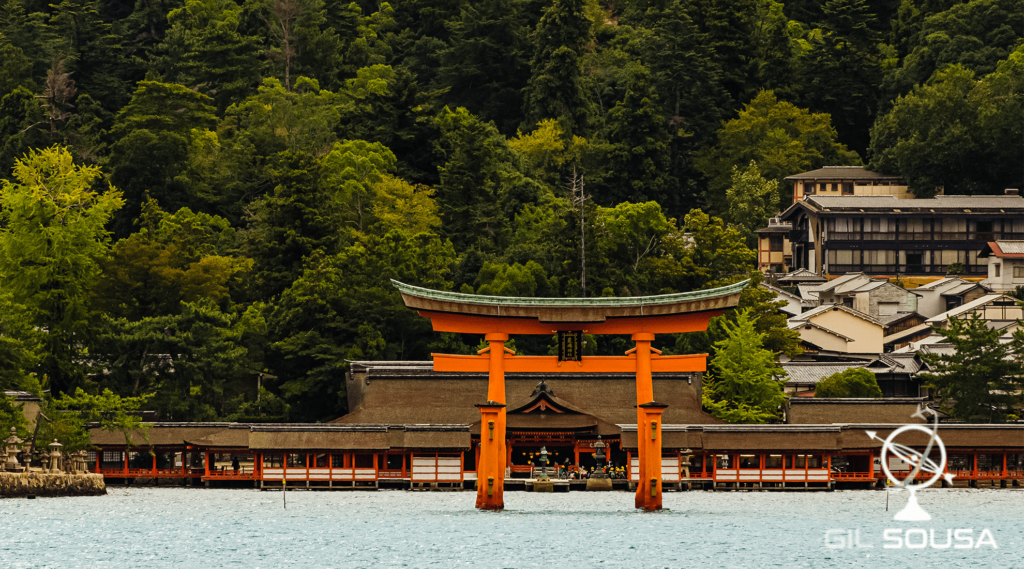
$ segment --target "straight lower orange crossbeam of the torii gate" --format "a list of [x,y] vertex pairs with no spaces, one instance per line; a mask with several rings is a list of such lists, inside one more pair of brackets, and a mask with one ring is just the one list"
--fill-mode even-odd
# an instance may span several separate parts
[[[431,354],[434,371],[470,371],[486,374],[490,356]],[[558,361],[558,356],[519,356],[505,354],[507,374],[636,374],[636,355],[584,356],[583,361]],[[707,371],[708,354],[659,356],[651,354],[652,373]]]

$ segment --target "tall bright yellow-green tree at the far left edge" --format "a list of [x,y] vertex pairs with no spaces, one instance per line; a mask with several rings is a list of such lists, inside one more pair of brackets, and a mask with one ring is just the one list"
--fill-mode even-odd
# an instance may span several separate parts
[[124,205],[114,186],[94,189],[100,176],[53,146],[18,161],[15,181],[0,186],[0,289],[46,330],[39,371],[55,393],[84,379],[89,291],[109,248],[104,227]]

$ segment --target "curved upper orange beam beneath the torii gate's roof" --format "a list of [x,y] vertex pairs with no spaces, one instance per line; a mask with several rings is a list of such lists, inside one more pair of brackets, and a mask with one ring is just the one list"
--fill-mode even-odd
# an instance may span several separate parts
[[420,310],[420,315],[430,318],[430,323],[433,325],[434,332],[549,336],[559,330],[582,330],[587,334],[681,334],[685,332],[703,332],[708,330],[708,322],[712,318],[721,316],[724,312],[725,309],[720,309],[663,316],[608,318],[603,322],[542,322],[532,318],[476,316],[473,314],[432,312],[430,310]]

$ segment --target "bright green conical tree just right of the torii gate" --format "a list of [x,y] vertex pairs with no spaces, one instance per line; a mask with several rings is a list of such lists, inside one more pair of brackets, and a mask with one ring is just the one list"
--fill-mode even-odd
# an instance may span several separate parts
[[705,380],[705,408],[729,423],[769,423],[780,415],[784,402],[782,384],[775,378],[785,371],[775,355],[762,347],[764,335],[754,329],[746,310],[735,323],[723,322],[726,338],[715,343],[714,371]]

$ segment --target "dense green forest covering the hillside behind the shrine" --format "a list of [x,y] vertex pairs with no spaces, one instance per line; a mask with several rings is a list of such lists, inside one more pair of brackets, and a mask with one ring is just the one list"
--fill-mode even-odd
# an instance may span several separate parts
[[391,278],[703,289],[790,174],[1024,185],[1024,0],[4,2],[0,387],[165,421],[327,421],[346,360],[476,349]]

